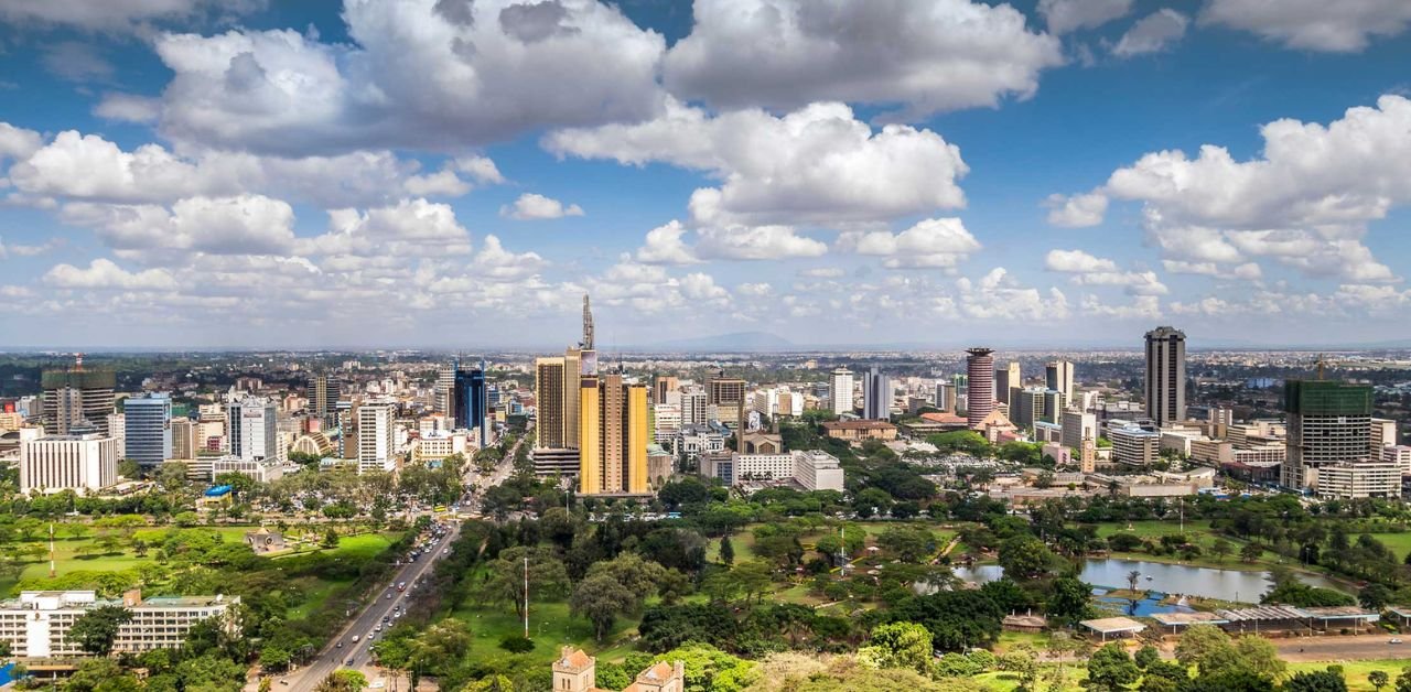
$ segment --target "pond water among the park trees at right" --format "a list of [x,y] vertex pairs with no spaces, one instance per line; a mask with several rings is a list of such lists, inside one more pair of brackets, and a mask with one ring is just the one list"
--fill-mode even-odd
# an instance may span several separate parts
[[[1257,603],[1259,598],[1268,591],[1271,583],[1268,572],[1213,569],[1208,567],[1168,565],[1165,562],[1115,558],[1085,561],[1081,576],[1082,581],[1094,586],[1126,589],[1127,572],[1133,569],[1141,572],[1137,589],[1158,591],[1163,593],[1189,593],[1192,596],[1246,603]],[[1003,574],[1005,568],[999,565],[955,568],[955,576],[981,583],[999,579]],[[1328,579],[1315,575],[1300,574],[1298,579],[1311,586],[1322,586],[1325,589],[1338,588]]]

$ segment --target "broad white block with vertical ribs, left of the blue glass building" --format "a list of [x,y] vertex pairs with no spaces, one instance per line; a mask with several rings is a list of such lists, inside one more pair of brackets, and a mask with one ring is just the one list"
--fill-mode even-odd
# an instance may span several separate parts
[[117,482],[120,454],[117,440],[102,433],[21,435],[20,492],[102,490]]

